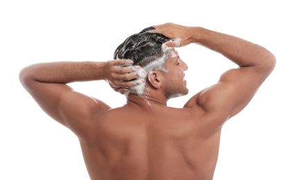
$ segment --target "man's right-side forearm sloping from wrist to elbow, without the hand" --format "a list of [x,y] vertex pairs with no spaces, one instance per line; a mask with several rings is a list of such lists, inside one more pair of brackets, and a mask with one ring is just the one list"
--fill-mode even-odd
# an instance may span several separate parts
[[272,67],[275,57],[266,48],[239,37],[217,33],[201,27],[190,27],[190,40],[221,53],[237,65]]

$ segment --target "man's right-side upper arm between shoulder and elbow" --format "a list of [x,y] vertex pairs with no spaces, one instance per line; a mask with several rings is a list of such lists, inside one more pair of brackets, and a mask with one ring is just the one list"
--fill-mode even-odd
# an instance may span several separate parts
[[217,84],[202,91],[197,103],[206,111],[231,118],[248,105],[263,81],[262,73],[253,67],[230,69]]

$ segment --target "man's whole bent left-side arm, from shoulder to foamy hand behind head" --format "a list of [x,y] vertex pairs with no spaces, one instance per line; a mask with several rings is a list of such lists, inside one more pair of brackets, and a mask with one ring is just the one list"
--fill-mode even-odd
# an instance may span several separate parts
[[[51,118],[78,136],[86,133],[91,118],[109,109],[100,100],[73,91],[70,82],[107,80],[114,87],[133,87],[138,78],[131,60],[107,62],[49,62],[27,66],[19,73],[21,84]],[[123,67],[125,66],[125,67]]]

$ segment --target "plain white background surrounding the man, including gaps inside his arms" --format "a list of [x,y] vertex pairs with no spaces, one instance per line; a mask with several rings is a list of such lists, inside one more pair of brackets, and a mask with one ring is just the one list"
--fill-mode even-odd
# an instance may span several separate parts
[[[19,71],[51,61],[106,61],[133,33],[172,22],[203,26],[268,48],[273,73],[251,103],[224,125],[215,180],[299,179],[298,5],[296,1],[0,2],[0,179],[89,179],[80,145],[21,87]],[[188,64],[188,96],[217,82],[235,64],[197,45],[178,49]],[[105,82],[71,84],[107,102],[125,96]]]

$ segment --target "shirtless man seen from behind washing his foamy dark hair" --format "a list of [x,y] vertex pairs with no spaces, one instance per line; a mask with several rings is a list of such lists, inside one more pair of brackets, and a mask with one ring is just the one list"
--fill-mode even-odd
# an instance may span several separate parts
[[[177,24],[153,27],[120,44],[120,60],[33,64],[20,73],[39,106],[78,136],[91,179],[212,179],[222,125],[248,105],[275,66],[269,51],[238,37]],[[239,68],[183,108],[167,107],[167,100],[188,93],[188,66],[174,48],[191,43]],[[66,85],[89,80],[107,80],[127,104],[111,109]]]

